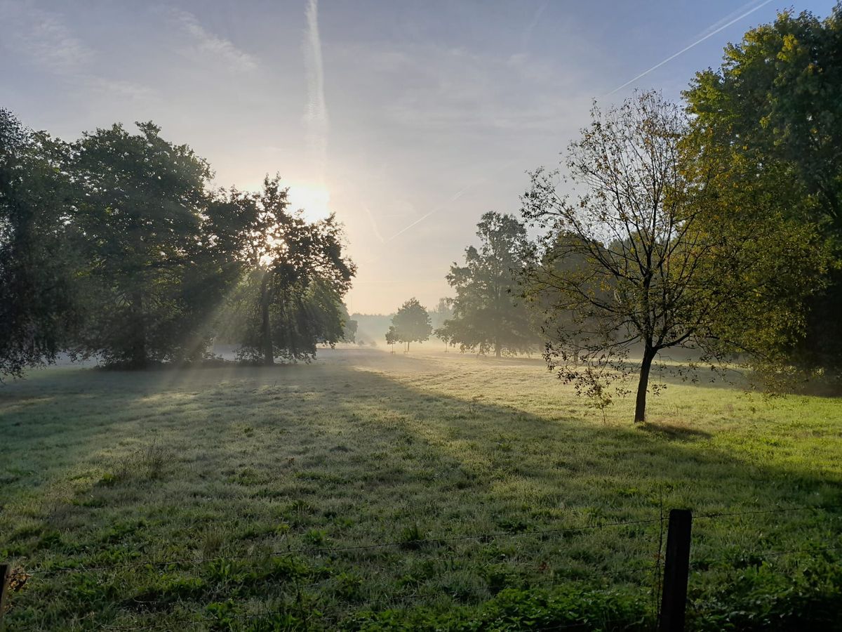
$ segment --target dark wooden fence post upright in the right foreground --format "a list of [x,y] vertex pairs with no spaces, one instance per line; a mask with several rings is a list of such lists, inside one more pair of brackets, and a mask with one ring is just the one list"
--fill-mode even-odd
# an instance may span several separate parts
[[660,632],[684,632],[685,629],[692,523],[693,515],[689,509],[669,510],[667,559],[663,566],[663,592],[658,625]]

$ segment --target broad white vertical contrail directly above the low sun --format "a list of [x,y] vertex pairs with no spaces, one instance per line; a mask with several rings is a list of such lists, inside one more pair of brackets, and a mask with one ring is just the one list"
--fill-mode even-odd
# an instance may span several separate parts
[[318,32],[318,0],[307,0],[304,63],[307,75],[307,107],[304,113],[306,143],[319,177],[324,180],[328,155],[328,106],[324,100],[322,38]]

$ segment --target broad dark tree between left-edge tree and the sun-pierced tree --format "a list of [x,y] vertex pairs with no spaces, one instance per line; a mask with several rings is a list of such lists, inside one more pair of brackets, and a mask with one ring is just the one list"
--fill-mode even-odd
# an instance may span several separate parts
[[90,262],[83,347],[131,367],[200,355],[232,280],[208,164],[152,123],[137,126],[86,133],[72,161]]

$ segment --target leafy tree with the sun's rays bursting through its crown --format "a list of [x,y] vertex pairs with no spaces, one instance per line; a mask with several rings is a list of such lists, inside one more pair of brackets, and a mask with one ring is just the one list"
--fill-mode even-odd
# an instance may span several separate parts
[[232,191],[226,198],[253,218],[242,249],[244,275],[227,312],[228,337],[241,344],[242,357],[265,365],[276,357],[308,360],[317,344],[344,339],[342,298],[356,270],[335,217],[307,222],[301,210],[290,210],[287,194],[275,176],[256,195]]

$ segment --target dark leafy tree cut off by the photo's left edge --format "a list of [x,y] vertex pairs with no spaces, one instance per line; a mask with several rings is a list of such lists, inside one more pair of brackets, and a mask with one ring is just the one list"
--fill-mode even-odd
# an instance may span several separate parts
[[53,361],[80,319],[66,158],[0,109],[0,378]]

